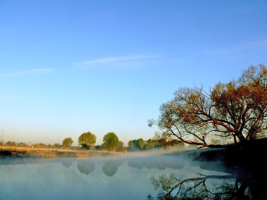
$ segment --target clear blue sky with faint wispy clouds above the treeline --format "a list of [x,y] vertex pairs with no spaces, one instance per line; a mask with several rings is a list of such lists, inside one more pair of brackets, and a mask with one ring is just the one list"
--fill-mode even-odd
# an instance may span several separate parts
[[153,137],[178,87],[266,64],[267,1],[0,1],[0,129],[15,142]]

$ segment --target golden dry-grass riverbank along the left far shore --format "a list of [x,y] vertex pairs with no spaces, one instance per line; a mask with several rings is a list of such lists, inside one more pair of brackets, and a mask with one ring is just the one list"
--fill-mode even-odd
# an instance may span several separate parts
[[66,150],[66,149],[42,149],[30,147],[0,147],[1,158],[16,157],[85,157],[85,156],[106,156],[117,155],[120,152],[93,151],[93,150]]

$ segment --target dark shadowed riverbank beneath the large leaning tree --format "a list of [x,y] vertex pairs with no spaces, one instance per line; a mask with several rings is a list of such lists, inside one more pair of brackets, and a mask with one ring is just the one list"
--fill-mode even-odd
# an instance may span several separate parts
[[244,174],[267,178],[267,167],[264,162],[266,154],[267,139],[265,138],[238,143],[237,145],[226,145],[226,148],[203,148],[172,153],[171,155],[189,158],[193,162],[202,162],[201,165],[205,165],[207,170],[218,169],[221,166],[226,173],[233,174],[238,170],[239,173],[243,171]]

